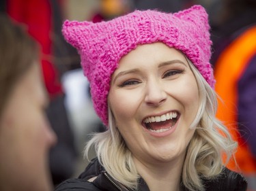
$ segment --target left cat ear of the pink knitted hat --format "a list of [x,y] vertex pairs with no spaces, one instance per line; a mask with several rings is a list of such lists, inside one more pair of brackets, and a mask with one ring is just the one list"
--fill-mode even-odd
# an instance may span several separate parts
[[93,24],[93,22],[66,20],[65,22],[63,22],[62,27],[63,36],[69,44],[74,46],[74,48],[80,49],[81,36],[83,36],[83,33],[87,31],[87,27],[91,24]]

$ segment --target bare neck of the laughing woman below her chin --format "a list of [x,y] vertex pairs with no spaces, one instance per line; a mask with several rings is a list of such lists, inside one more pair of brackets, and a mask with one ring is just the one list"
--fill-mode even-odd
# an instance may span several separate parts
[[[182,161],[182,162],[181,162]],[[158,162],[149,164],[134,157],[138,173],[143,177],[150,191],[179,191],[183,161]]]

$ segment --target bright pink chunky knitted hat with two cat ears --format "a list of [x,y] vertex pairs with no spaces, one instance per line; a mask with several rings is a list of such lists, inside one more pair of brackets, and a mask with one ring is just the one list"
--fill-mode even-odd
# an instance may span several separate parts
[[62,33],[81,55],[94,109],[107,126],[111,75],[120,58],[137,45],[161,41],[181,50],[213,88],[215,80],[209,63],[212,45],[209,29],[208,14],[200,5],[194,5],[175,14],[134,11],[107,22],[66,20]]

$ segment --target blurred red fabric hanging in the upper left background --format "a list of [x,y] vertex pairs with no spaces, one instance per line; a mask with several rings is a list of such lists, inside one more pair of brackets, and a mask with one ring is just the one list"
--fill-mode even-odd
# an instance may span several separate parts
[[50,1],[8,0],[7,12],[14,20],[27,24],[29,34],[42,46],[42,71],[50,97],[62,93],[57,70],[51,63],[53,19]]

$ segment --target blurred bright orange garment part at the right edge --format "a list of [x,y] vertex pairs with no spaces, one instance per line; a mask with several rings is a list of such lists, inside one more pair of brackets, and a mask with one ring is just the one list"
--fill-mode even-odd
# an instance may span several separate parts
[[231,160],[227,167],[247,175],[256,173],[256,160],[238,132],[238,80],[255,52],[256,27],[251,27],[225,48],[218,57],[214,71],[216,92],[222,99],[218,101],[217,118],[225,123],[233,139],[238,141],[238,150],[235,154],[238,166]]

